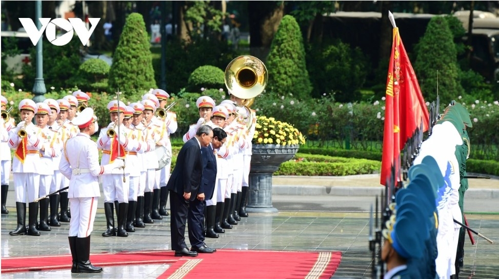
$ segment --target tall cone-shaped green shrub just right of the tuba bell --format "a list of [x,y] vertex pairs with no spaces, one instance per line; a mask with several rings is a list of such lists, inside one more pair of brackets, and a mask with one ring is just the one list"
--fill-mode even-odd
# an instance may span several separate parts
[[300,99],[309,98],[312,86],[305,59],[300,26],[293,16],[285,15],[274,35],[267,57],[267,91],[277,96],[292,93]]

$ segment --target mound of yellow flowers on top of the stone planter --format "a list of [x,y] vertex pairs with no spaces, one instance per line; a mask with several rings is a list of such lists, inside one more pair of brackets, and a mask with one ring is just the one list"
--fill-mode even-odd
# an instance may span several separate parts
[[274,117],[256,116],[253,144],[303,145],[305,136],[286,122],[276,121]]

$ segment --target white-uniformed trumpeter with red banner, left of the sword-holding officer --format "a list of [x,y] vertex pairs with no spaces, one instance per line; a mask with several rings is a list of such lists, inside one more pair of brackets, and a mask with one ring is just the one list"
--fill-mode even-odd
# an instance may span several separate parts
[[[10,235],[40,235],[36,229],[38,219],[38,197],[40,175],[38,167],[41,164],[40,148],[43,138],[31,121],[36,113],[36,104],[31,99],[23,99],[19,103],[22,122],[9,134],[8,145],[14,149],[12,172],[14,174],[15,205],[17,209],[17,228]],[[29,204],[29,228],[26,231],[26,203]]]

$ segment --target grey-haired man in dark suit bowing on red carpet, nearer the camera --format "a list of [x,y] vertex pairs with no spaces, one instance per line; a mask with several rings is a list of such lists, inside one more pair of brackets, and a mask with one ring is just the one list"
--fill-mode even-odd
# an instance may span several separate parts
[[[189,225],[189,239],[195,239],[196,235],[202,235],[202,214],[198,214],[198,203],[205,200],[205,193],[199,192],[201,177],[203,176],[203,161],[201,158],[201,147],[207,147],[213,138],[213,129],[203,125],[195,137],[189,139],[178,153],[175,168],[166,185],[170,190],[171,208],[171,247],[175,250],[175,256],[197,256],[198,252],[213,253],[214,250],[203,243],[191,243],[192,251],[187,249],[185,243],[185,225]],[[192,212],[191,212],[192,211]],[[201,239],[201,237],[199,237]]]

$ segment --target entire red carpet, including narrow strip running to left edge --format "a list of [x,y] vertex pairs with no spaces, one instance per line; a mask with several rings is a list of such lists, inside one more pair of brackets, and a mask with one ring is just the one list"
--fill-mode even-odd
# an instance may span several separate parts
[[[70,269],[71,255],[2,258],[2,273]],[[197,257],[175,257],[173,251],[91,254],[95,266],[172,265],[159,278],[330,278],[341,252],[217,250]]]

